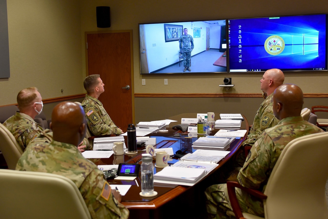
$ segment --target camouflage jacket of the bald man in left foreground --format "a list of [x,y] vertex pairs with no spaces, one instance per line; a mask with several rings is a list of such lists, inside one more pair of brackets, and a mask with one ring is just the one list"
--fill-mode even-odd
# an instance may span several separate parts
[[101,170],[85,159],[76,146],[51,141],[31,142],[16,170],[54,173],[71,179],[79,188],[92,218],[128,218],[129,210],[114,198]]

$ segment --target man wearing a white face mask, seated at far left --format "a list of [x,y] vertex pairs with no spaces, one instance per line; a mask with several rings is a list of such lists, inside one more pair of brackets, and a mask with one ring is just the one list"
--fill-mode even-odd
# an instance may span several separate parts
[[[3,125],[12,133],[24,151],[28,144],[43,131],[43,128],[34,121],[35,116],[42,112],[43,102],[38,89],[29,87],[18,93],[17,104],[19,112],[7,119]],[[45,131],[52,136],[51,130]],[[82,144],[83,146],[79,146],[81,151],[84,151],[85,145],[88,145],[87,150],[92,150],[86,138]]]

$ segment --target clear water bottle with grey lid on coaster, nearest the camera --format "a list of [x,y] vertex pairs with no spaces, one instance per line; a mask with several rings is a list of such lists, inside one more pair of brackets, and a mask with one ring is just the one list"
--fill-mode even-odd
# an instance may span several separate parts
[[154,164],[150,154],[142,154],[141,163],[141,193],[152,195],[154,193]]

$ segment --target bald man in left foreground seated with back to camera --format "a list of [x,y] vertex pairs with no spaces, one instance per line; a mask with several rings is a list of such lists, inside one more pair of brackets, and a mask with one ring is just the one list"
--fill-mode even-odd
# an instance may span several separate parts
[[37,138],[26,148],[16,170],[54,173],[71,179],[79,188],[92,218],[128,218],[121,195],[111,189],[103,172],[78,150],[86,133],[81,106],[61,102],[52,111],[53,140]]

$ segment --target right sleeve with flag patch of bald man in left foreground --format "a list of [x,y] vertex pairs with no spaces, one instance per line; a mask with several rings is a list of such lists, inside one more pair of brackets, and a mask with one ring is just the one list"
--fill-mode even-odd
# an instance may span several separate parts
[[100,170],[94,169],[79,189],[92,218],[129,217],[129,210],[114,198]]

